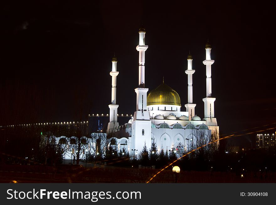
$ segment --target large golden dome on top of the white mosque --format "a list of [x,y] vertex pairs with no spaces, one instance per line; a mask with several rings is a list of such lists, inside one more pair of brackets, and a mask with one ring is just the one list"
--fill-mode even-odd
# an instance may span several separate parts
[[162,83],[156,89],[151,90],[147,96],[148,105],[177,105],[181,107],[178,93],[170,86]]

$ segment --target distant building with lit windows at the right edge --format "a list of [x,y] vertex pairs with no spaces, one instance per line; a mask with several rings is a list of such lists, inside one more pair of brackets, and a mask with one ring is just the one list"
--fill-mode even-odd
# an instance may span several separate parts
[[276,135],[275,134],[257,134],[256,148],[265,149],[267,151],[276,151]]

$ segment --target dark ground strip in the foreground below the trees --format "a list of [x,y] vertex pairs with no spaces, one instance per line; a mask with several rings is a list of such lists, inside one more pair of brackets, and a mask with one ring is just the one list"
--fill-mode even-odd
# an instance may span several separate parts
[[[83,166],[84,165],[84,166]],[[145,167],[114,167],[85,162],[82,165],[2,165],[0,182],[12,183],[146,183],[160,170]],[[180,171],[171,167],[152,179],[153,183],[275,183],[275,172]]]

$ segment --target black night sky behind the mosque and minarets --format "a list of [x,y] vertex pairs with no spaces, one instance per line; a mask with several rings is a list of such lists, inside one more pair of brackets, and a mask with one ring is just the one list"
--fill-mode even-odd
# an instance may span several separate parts
[[114,52],[118,113],[133,114],[139,55],[135,47],[142,23],[149,46],[149,90],[164,76],[185,111],[184,71],[190,50],[196,70],[195,112],[203,118],[202,61],[209,38],[215,60],[212,97],[221,133],[275,122],[275,13],[264,1],[9,1],[0,9],[3,125],[74,121],[80,112],[109,113]]

